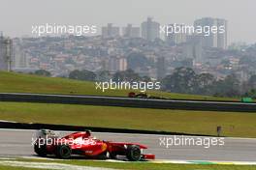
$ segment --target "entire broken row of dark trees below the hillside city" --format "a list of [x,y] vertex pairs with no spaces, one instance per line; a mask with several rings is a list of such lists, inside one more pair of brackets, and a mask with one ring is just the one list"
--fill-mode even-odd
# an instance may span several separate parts
[[[36,71],[35,74],[50,76],[48,71]],[[144,81],[151,79],[147,76],[140,76],[133,70],[117,71],[71,71],[70,79],[84,81]],[[241,82],[235,74],[227,75],[224,79],[216,79],[210,73],[197,74],[190,68],[177,68],[172,74],[161,80],[161,90],[173,93],[208,95],[216,97],[250,97],[256,99],[256,75],[253,75],[246,82]]]

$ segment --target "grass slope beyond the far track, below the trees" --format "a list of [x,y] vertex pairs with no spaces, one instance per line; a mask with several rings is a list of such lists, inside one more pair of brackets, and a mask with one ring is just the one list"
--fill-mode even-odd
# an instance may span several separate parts
[[[96,95],[127,97],[131,90],[96,90],[95,83],[68,78],[44,77],[32,74],[0,71],[0,93],[40,93],[65,95]],[[148,95],[171,99],[238,100],[208,96],[150,91]]]

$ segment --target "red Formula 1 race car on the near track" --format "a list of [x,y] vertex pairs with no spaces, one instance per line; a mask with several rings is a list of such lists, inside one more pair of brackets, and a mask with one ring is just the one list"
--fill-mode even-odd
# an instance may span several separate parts
[[91,136],[89,130],[74,132],[58,137],[54,131],[41,129],[34,142],[34,151],[38,156],[54,155],[70,158],[72,155],[90,158],[116,158],[125,156],[130,161],[154,159],[154,155],[144,155],[144,145],[98,140]]

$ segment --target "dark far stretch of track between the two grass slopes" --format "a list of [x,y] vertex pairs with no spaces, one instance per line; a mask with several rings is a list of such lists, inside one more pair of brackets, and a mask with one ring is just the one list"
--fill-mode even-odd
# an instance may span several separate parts
[[133,99],[118,97],[0,93],[0,101],[85,104],[201,111],[256,112],[256,103],[185,99]]

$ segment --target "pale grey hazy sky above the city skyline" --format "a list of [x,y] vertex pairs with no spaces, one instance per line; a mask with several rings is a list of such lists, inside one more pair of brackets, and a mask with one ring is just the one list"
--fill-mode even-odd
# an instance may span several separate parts
[[255,0],[0,0],[0,30],[19,37],[35,24],[193,24],[196,18],[228,20],[229,42],[256,42]]

